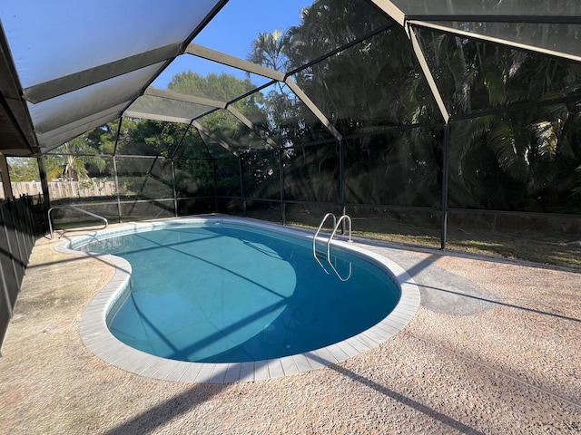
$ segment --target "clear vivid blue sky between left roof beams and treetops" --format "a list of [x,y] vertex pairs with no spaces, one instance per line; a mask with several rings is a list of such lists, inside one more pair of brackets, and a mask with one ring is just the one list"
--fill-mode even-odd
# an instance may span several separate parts
[[[313,0],[230,0],[212,23],[198,34],[193,43],[222,53],[246,59],[252,41],[259,33],[287,30],[300,24],[300,10]],[[236,73],[227,67],[207,61],[196,61],[193,56],[182,56],[170,65],[153,83],[164,88],[173,75],[192,70],[194,73],[234,73],[244,79],[245,73]],[[261,84],[261,83],[256,83]]]

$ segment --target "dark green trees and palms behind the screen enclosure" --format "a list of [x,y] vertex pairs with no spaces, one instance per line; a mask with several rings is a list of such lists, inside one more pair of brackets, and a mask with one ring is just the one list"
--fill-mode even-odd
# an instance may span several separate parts
[[[341,157],[348,202],[436,206],[443,120],[404,30],[386,26],[310,64],[388,24],[384,14],[368,6],[355,0],[316,0],[302,11],[300,25],[258,34],[247,59],[283,73],[309,65],[291,79],[347,138]],[[418,32],[452,115],[449,205],[581,212],[581,105],[554,102],[581,92],[579,63],[426,29]],[[287,198],[337,202],[341,145],[327,143],[333,140],[329,129],[286,84],[254,93],[252,88],[250,79],[191,71],[177,74],[168,85],[172,92],[219,102],[247,95],[232,106],[281,146]],[[152,108],[174,103],[143,101]],[[523,110],[528,102],[547,104]],[[187,104],[182,109],[192,109]],[[515,105],[519,110],[512,109]],[[507,110],[496,111],[502,108]],[[165,111],[169,105],[157,109]],[[236,196],[241,190],[239,160],[230,159],[236,153],[244,161],[246,193],[277,197],[276,154],[252,152],[269,148],[258,135],[226,110],[209,111],[196,125],[202,126],[200,131],[179,123],[123,119],[121,131],[115,122],[87,133],[86,148],[70,144],[77,147],[71,153],[82,159],[67,161],[69,153],[60,151],[47,157],[46,165],[67,178],[84,179],[89,168],[112,172],[103,169],[100,154],[173,158],[179,195],[212,196],[211,160],[221,159],[218,194]],[[307,146],[313,142],[319,145]],[[167,172],[156,174],[136,159],[118,159],[117,164],[127,192],[146,192],[144,198],[169,192]]]

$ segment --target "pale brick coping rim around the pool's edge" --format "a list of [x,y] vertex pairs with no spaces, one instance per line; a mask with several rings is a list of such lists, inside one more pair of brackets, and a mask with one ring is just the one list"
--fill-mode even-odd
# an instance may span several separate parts
[[[114,229],[104,229],[100,236],[130,234],[172,227],[183,223],[231,222],[251,227],[262,227],[292,237],[312,239],[312,232],[299,228],[282,227],[250,218],[226,215],[204,215],[196,217],[168,218],[149,222],[127,224]],[[115,267],[113,278],[94,296],[81,315],[79,333],[85,347],[95,356],[127,372],[173,382],[187,383],[231,383],[266,381],[271,378],[310,372],[330,364],[347,360],[369,351],[399,333],[416,314],[419,307],[419,287],[411,276],[398,264],[346,241],[333,239],[331,246],[342,247],[358,256],[365,256],[382,268],[399,285],[401,295],[396,307],[378,324],[339,343],[330,344],[307,353],[298,353],[271,360],[255,362],[182,362],[150,353],[144,353],[122,343],[109,331],[107,315],[121,303],[131,291],[132,268],[127,260],[110,254],[83,253],[70,247],[78,246],[94,236],[78,236],[60,242],[55,249],[64,254],[94,256],[111,262]],[[321,240],[323,240],[321,238]]]

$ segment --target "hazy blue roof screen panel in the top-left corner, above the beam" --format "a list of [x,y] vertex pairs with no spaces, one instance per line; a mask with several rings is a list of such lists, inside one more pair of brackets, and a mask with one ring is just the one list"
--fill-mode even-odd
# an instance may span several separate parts
[[0,18],[28,88],[182,43],[219,3],[12,0],[3,2]]

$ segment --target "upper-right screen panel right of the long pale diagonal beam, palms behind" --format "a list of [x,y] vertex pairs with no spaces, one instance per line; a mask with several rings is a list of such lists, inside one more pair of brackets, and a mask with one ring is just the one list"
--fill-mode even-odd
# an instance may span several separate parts
[[579,63],[432,29],[418,32],[420,48],[449,113],[579,95]]

